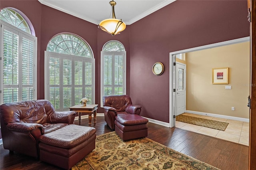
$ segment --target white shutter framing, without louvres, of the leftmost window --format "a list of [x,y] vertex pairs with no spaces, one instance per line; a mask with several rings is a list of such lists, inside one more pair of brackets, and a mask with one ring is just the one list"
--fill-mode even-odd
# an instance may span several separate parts
[[[11,32],[15,32],[15,34],[17,34],[19,36],[19,61],[18,61],[18,65],[19,65],[19,74],[18,75],[18,101],[22,101],[22,87],[26,87],[26,85],[22,85],[22,38],[26,38],[29,40],[32,40],[34,42],[34,59],[33,59],[33,64],[34,64],[34,68],[33,68],[33,100],[37,99],[37,38],[31,34],[28,34],[27,32],[20,30],[19,28],[12,26],[11,24],[4,22],[2,20],[0,20],[0,26],[1,26],[1,31],[0,31],[0,40],[1,40],[1,46],[0,46],[0,53],[1,53],[1,57],[0,57],[0,65],[1,65],[1,69],[0,69],[0,103],[3,104],[4,103],[4,77],[3,75],[3,56],[4,56],[4,51],[3,51],[3,35],[4,35],[4,30],[8,30]],[[16,85],[15,85],[16,86]],[[28,87],[30,87],[31,85],[28,85]],[[11,86],[12,88],[12,86]]]

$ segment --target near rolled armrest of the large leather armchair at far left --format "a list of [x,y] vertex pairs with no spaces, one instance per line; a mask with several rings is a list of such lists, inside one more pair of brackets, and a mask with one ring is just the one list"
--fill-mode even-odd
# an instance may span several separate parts
[[27,132],[32,131],[36,128],[39,128],[41,130],[41,133],[44,134],[44,126],[38,123],[20,123],[20,122],[13,122],[8,123],[6,127],[9,130],[16,130],[20,132]]

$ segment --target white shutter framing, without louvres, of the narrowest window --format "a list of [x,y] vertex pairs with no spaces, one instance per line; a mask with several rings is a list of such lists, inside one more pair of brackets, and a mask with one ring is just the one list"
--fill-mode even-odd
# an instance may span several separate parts
[[[106,43],[107,44],[107,43]],[[106,45],[105,44],[105,45]],[[104,46],[103,46],[104,48]],[[101,97],[101,100],[100,100],[100,107],[103,107],[103,101],[102,101],[102,98],[103,98],[103,93],[104,93],[104,77],[103,77],[103,74],[104,74],[104,55],[112,55],[112,57],[114,58],[115,55],[123,55],[124,56],[124,76],[123,76],[123,94],[125,95],[126,94],[126,51],[101,51],[101,63],[100,63],[100,66],[101,66],[101,74],[100,74],[100,97]],[[112,61],[113,62],[113,65],[114,65],[114,60]],[[112,73],[114,73],[114,67],[112,67]],[[115,85],[114,85],[114,76],[112,76],[112,89],[114,89]],[[113,94],[114,95],[114,90],[113,90]]]

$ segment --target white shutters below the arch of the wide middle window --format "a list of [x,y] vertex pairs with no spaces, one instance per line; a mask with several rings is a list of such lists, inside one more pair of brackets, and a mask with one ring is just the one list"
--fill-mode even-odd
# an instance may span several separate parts
[[68,110],[87,97],[88,104],[94,103],[94,59],[45,51],[46,99],[56,111]]

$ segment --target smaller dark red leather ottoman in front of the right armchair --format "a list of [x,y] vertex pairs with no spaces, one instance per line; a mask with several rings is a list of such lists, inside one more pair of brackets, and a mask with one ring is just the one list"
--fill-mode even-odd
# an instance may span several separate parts
[[143,138],[148,136],[147,123],[148,119],[136,114],[117,115],[115,131],[123,141]]

